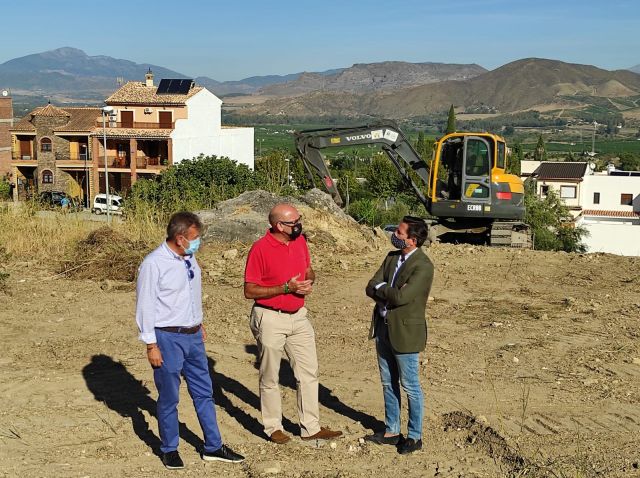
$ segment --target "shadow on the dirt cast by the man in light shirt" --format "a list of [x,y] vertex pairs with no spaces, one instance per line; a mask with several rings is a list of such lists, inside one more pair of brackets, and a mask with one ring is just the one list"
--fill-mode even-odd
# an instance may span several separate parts
[[[95,399],[103,402],[120,416],[131,418],[136,435],[151,448],[155,455],[160,456],[160,438],[149,429],[149,424],[142,413],[146,411],[157,419],[156,401],[149,396],[149,389],[121,362],[116,362],[107,355],[91,357],[91,362],[82,369],[82,376]],[[180,438],[196,450],[201,450],[204,445],[200,437],[182,422],[180,422]]]

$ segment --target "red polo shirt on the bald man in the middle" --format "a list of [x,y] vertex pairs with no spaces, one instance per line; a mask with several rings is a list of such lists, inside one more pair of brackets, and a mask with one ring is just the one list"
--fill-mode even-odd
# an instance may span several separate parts
[[[311,265],[311,257],[304,236],[288,243],[280,242],[267,233],[253,243],[247,256],[244,281],[263,287],[283,285],[300,274],[298,280],[305,279],[305,272]],[[258,299],[256,303],[272,309],[295,312],[304,306],[304,296],[280,294],[270,299]]]

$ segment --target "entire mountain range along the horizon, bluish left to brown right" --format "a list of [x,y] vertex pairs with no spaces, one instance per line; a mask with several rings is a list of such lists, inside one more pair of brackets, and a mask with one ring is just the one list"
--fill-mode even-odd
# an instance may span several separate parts
[[[99,104],[123,81],[186,78],[159,65],[58,48],[0,64],[0,88],[14,97]],[[635,71],[635,72],[634,72]],[[609,71],[527,58],[487,71],[476,64],[388,61],[322,72],[254,76],[237,81],[197,77],[239,115],[409,118],[454,104],[470,113],[600,108],[640,118],[640,65]]]

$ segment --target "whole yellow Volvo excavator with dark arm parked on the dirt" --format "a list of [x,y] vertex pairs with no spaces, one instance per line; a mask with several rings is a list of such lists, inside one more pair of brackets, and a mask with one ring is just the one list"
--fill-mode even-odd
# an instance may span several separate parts
[[[429,164],[392,121],[297,131],[294,136],[311,180],[315,184],[319,177],[339,205],[342,198],[322,150],[376,144],[432,216],[425,220],[429,241],[445,234],[465,234],[480,237],[492,246],[532,247],[530,228],[523,222],[524,184],[518,176],[506,172],[507,145],[498,135],[447,134],[436,141]],[[466,242],[463,236],[457,237]]]

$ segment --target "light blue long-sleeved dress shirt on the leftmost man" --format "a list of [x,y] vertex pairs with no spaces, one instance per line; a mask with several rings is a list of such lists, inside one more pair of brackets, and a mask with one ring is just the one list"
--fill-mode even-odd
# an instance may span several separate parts
[[156,327],[194,327],[202,323],[200,267],[194,256],[183,258],[166,242],[142,261],[136,291],[139,338],[147,344],[156,343]]

